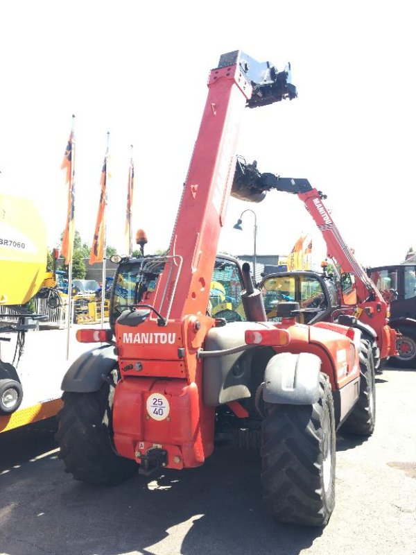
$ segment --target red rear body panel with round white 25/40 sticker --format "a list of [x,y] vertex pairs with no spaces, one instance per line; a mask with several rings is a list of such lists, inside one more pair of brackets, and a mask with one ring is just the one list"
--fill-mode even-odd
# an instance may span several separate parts
[[[195,382],[187,384],[184,379],[121,380],[113,404],[117,452],[140,463],[140,455],[157,446],[168,453],[169,468],[202,465],[214,449],[214,408],[202,404],[200,393]],[[147,406],[154,394],[167,400],[162,420],[153,415],[157,404]]]

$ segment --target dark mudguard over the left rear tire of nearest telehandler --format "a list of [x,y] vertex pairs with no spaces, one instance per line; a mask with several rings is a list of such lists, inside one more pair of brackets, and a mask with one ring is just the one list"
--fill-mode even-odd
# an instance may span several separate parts
[[62,391],[91,393],[98,391],[103,380],[116,368],[117,358],[112,345],[103,345],[87,352],[74,361],[62,379]]

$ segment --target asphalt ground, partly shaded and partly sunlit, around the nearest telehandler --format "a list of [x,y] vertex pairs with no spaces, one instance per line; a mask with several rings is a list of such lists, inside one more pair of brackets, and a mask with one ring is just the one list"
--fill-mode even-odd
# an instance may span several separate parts
[[416,371],[377,377],[376,430],[338,434],[327,527],[276,524],[255,452],[220,447],[205,466],[94,488],[63,470],[54,421],[0,434],[2,555],[414,555]]

